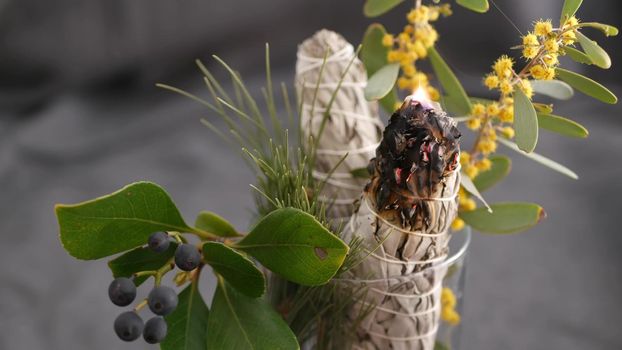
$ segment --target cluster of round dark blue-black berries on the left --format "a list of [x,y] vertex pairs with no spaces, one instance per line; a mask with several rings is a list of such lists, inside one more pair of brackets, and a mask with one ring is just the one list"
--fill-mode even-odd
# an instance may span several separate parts
[[[156,253],[166,251],[171,238],[166,232],[155,232],[149,236],[149,248]],[[201,253],[197,247],[188,243],[180,243],[175,251],[175,265],[183,271],[192,271],[201,263]],[[171,265],[171,267],[173,267]],[[133,278],[119,277],[108,287],[110,301],[117,306],[128,306],[136,299],[136,285]],[[156,286],[149,292],[147,299],[134,310],[120,314],[114,321],[114,331],[124,341],[134,341],[142,334],[149,344],[157,344],[166,337],[168,327],[163,316],[173,312],[177,307],[178,297],[171,287],[160,286],[156,278]],[[146,323],[138,315],[138,311],[148,305],[156,316]]]

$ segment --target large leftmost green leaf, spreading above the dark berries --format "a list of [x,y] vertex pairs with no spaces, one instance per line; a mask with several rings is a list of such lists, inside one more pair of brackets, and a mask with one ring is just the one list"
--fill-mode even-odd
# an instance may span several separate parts
[[141,246],[156,231],[197,232],[162,187],[137,182],[83,203],[57,204],[60,239],[78,259],[98,259]]

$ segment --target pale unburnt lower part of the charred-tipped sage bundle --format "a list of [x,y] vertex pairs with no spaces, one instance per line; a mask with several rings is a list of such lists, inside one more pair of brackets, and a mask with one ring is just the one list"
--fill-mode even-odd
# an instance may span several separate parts
[[[350,271],[349,278],[335,281],[370,291],[350,310],[351,319],[356,319],[370,309],[358,327],[353,348],[434,348],[450,224],[457,213],[460,168],[448,174],[440,187],[430,198],[401,194],[428,206],[430,224],[425,230],[402,227],[400,218],[380,215],[374,209],[374,198],[363,194],[345,233],[346,240],[362,238],[369,255]],[[445,191],[450,194],[443,194]],[[399,246],[404,249],[398,253]]]

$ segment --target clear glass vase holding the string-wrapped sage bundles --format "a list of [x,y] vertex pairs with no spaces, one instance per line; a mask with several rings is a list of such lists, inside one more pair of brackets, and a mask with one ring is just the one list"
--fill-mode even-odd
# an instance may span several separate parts
[[[323,346],[319,346],[317,344],[318,338],[312,336],[304,339],[301,344],[302,349],[460,349],[466,257],[470,242],[471,230],[469,228],[454,232],[449,243],[449,255],[447,258],[412,274],[381,279],[336,278],[333,280],[332,283],[338,285],[346,293],[354,294],[357,291],[364,291],[361,294],[364,297],[357,300],[357,302],[363,305],[361,309],[367,307],[368,311],[372,310],[372,312],[378,313],[379,316],[376,316],[376,319],[392,318],[393,325],[402,328],[413,325],[406,333],[402,329],[401,336],[391,338],[387,336],[391,333],[390,326],[385,329],[386,333],[381,332],[380,334],[369,329],[363,332],[362,338],[359,334],[358,337],[354,336],[352,340],[345,342],[341,341],[341,339],[331,339],[328,342],[330,345]],[[433,281],[433,287],[425,293],[417,293],[416,289],[420,287],[419,282],[422,279]],[[387,285],[390,286],[390,289],[387,289]],[[404,308],[392,308],[395,306],[395,303],[387,304],[387,296],[389,296],[389,299],[393,298],[391,301],[395,301],[396,296],[398,298],[399,296],[404,296],[404,298],[421,297],[428,300],[434,299],[437,302],[427,309],[416,307],[405,312]],[[417,304],[418,299],[410,300],[415,300],[411,302],[411,306]],[[402,304],[405,301],[400,299],[398,304],[403,306]],[[416,330],[414,325],[420,325],[419,322],[422,320],[422,315],[427,317],[427,326]],[[352,316],[351,312],[350,316]],[[365,340],[367,336],[373,339]]]

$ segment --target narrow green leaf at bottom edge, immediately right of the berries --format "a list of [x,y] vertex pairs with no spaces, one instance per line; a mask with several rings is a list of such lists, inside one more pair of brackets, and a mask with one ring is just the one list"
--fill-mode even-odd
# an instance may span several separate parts
[[179,304],[164,317],[168,334],[160,344],[162,350],[205,350],[209,309],[196,282],[179,293]]

